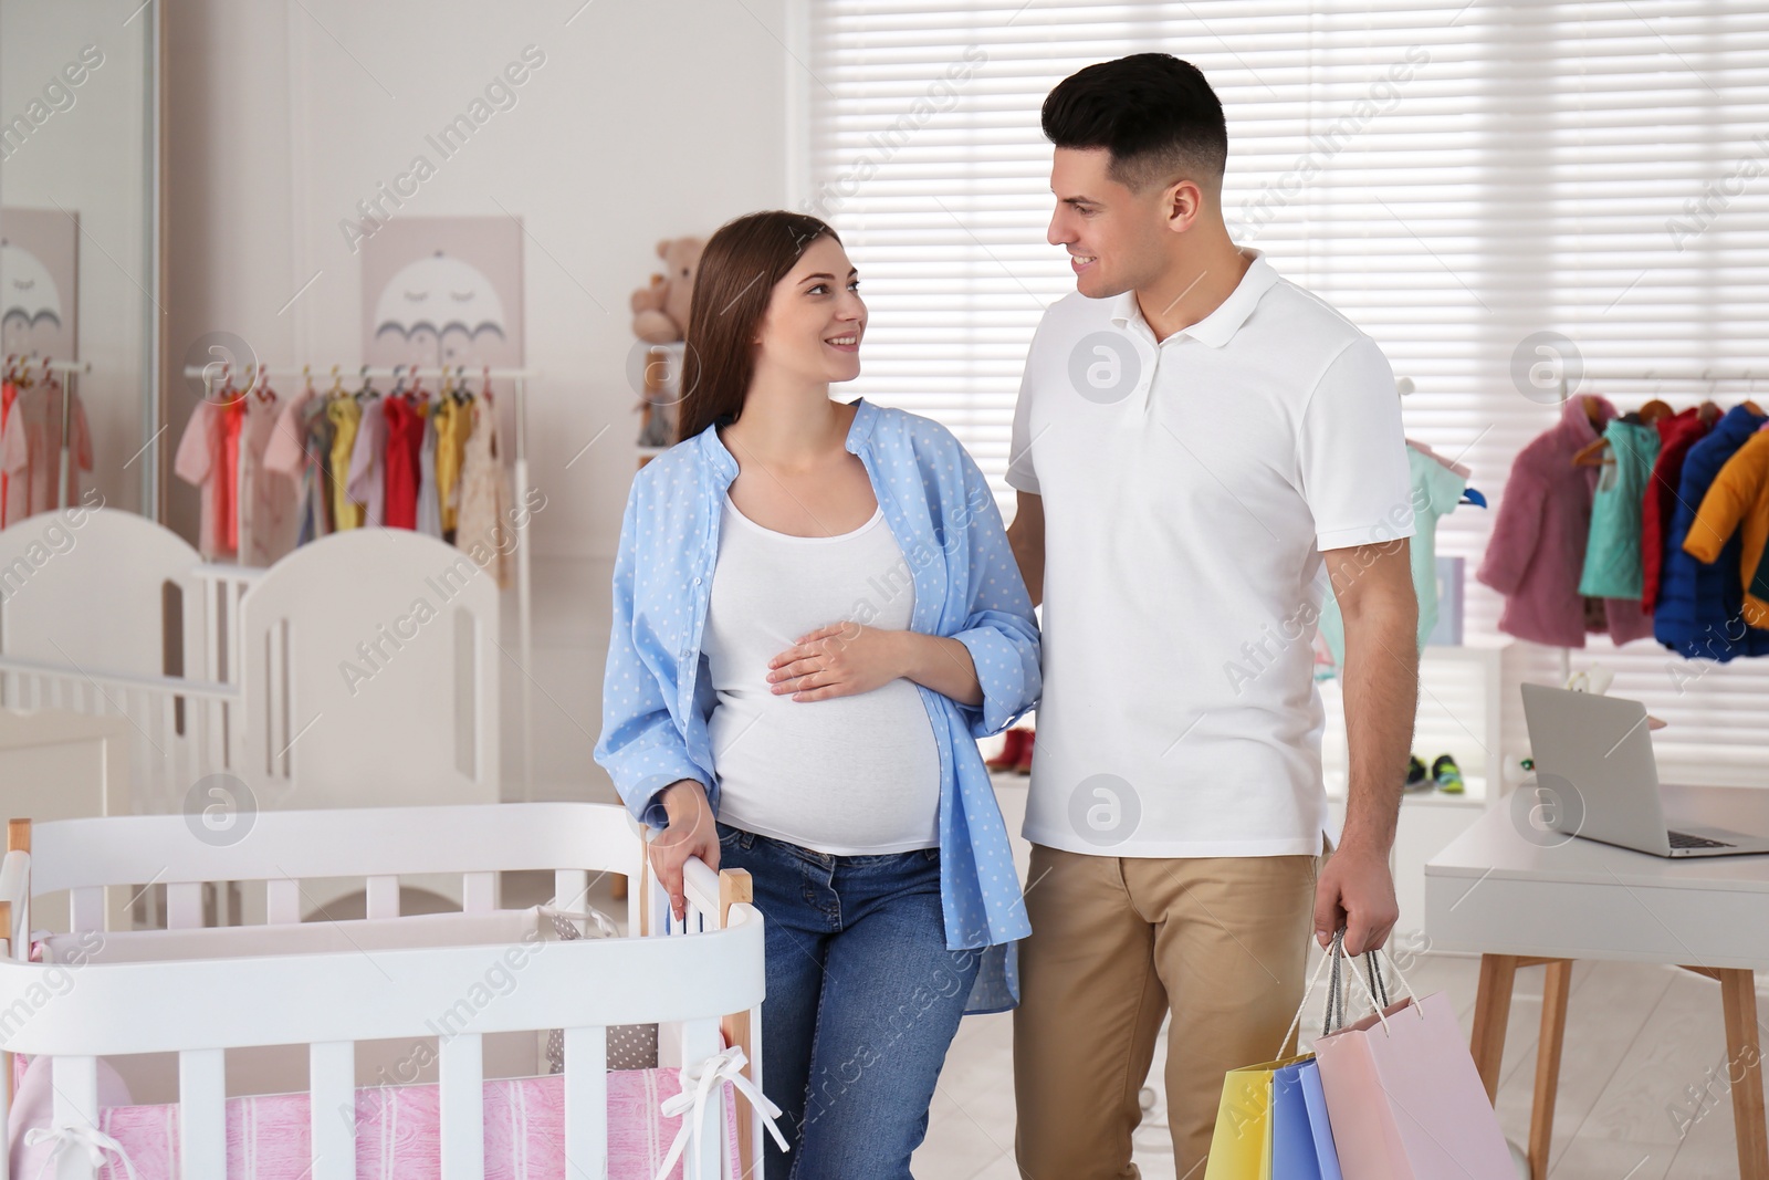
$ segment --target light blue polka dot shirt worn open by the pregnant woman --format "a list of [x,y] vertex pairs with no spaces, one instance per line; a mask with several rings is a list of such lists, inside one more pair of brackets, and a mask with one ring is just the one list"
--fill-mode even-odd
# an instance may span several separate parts
[[[1031,927],[975,739],[1007,729],[1037,704],[1038,624],[994,495],[952,432],[865,400],[854,405],[847,449],[865,464],[913,570],[911,628],[962,642],[984,690],[980,706],[966,706],[918,686],[939,745],[946,946],[982,952],[966,1010],[999,1012],[1019,1001],[1014,941]],[[628,810],[658,828],[667,819],[656,796],[681,778],[704,784],[718,812],[708,739],[715,695],[701,633],[720,510],[736,474],[738,462],[708,426],[646,464],[626,497],[594,757]]]

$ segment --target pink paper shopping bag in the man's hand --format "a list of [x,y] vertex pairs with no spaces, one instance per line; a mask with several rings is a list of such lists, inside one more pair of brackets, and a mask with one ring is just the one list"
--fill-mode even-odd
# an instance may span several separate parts
[[1369,966],[1373,980],[1352,975],[1375,1012],[1314,1042],[1344,1180],[1516,1180],[1449,1000],[1419,1000],[1394,969],[1408,994],[1390,1005]]

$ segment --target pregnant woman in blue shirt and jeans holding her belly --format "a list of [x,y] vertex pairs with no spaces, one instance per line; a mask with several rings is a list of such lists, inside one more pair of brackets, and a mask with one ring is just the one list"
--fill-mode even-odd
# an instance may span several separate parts
[[964,1012],[1028,932],[975,738],[1038,697],[1038,632],[982,472],[934,421],[830,400],[867,308],[835,232],[706,244],[681,442],[633,479],[596,761],[681,867],[747,869],[768,931],[766,1176],[909,1176]]

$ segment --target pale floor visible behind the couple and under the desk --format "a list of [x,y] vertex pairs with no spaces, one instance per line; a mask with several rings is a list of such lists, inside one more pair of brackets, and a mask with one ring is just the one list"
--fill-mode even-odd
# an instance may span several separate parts
[[[996,793],[1019,830],[1024,778],[998,777]],[[1021,847],[1021,856],[1026,849]],[[1021,863],[1024,872],[1024,862]],[[1419,994],[1447,992],[1470,1031],[1479,961],[1421,955],[1408,968]],[[1528,1139],[1541,1021],[1543,968],[1518,973],[1505,1040],[1498,1116],[1505,1136]],[[1758,977],[1769,1014],[1769,980]],[[1769,1037],[1769,1028],[1764,1030]],[[1160,1104],[1160,1061],[1150,1076],[1153,1111],[1136,1138],[1145,1176],[1173,1176]],[[1677,1120],[1688,1122],[1686,1132]],[[1012,1015],[968,1017],[959,1030],[915,1157],[916,1180],[1014,1180]],[[1739,1175],[1732,1095],[1725,1083],[1719,985],[1677,968],[1580,962],[1573,969],[1566,1051],[1550,1176],[1555,1180],[1707,1180]],[[1198,1180],[1196,1176],[1192,1180]]]

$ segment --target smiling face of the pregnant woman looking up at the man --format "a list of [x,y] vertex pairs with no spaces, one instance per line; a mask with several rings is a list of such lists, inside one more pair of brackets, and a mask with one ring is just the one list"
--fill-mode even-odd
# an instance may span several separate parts
[[757,370],[785,372],[812,382],[860,375],[860,338],[867,304],[847,251],[833,237],[805,248],[793,271],[775,283],[762,315]]

